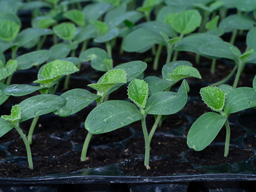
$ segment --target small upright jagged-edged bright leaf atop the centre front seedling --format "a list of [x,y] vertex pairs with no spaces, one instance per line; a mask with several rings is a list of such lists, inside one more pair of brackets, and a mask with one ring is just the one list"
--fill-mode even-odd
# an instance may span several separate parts
[[144,109],[148,99],[148,84],[143,80],[133,79],[128,86],[128,98]]

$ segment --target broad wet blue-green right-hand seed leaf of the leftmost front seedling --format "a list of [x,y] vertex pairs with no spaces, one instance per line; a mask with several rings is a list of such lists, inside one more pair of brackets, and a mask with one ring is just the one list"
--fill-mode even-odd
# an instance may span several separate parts
[[51,113],[66,104],[66,100],[58,95],[40,94],[21,101],[21,121]]

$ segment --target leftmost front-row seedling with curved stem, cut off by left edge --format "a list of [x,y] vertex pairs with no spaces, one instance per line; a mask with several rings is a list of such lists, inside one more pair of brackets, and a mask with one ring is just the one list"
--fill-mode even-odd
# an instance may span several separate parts
[[0,118],[0,137],[5,133],[11,131],[13,127],[18,131],[20,137],[25,143],[28,157],[29,168],[33,170],[33,159],[31,156],[31,149],[29,141],[26,138],[25,133],[20,129],[19,124],[27,119],[48,114],[58,108],[64,106],[65,99],[57,95],[36,95],[28,99],[23,100],[19,105],[12,107],[11,115],[2,115]]

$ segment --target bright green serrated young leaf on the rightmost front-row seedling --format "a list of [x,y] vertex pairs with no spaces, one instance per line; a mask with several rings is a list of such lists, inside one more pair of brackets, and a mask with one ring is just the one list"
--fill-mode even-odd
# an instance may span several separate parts
[[225,93],[218,87],[203,87],[200,94],[208,107],[217,112],[222,111],[225,105]]

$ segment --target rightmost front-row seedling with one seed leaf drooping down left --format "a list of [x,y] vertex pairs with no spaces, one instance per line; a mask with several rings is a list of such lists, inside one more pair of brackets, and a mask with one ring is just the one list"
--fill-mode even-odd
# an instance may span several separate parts
[[228,117],[232,113],[256,106],[256,92],[250,87],[229,87],[222,91],[218,87],[204,87],[200,91],[203,101],[214,112],[200,116],[187,135],[187,143],[196,151],[203,150],[217,136],[221,127],[226,126],[225,153],[227,157],[230,140],[230,127]]

